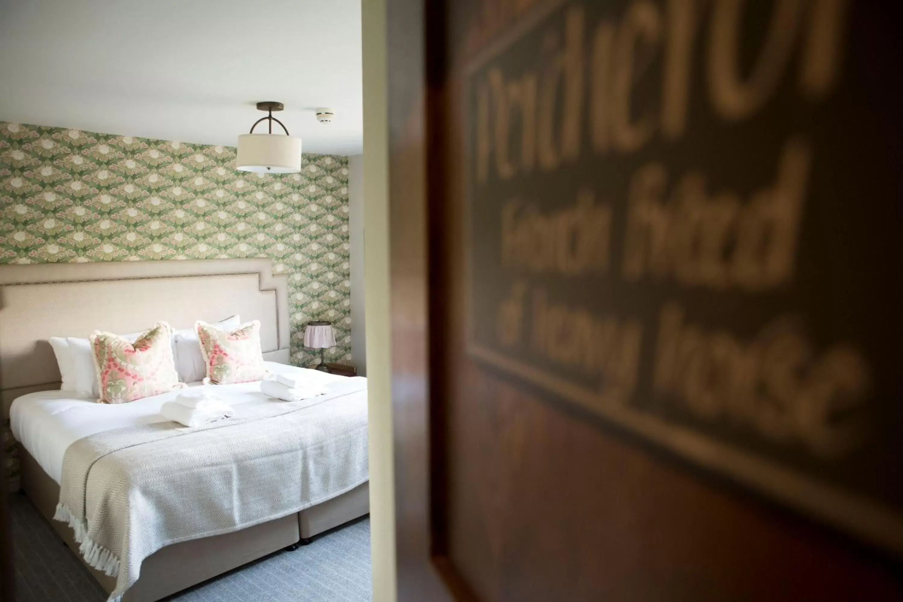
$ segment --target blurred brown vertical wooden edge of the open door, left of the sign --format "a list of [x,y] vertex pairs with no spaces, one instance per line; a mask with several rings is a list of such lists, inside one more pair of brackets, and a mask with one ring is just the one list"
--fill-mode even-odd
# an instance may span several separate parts
[[445,3],[389,0],[389,261],[398,599],[475,599],[445,541]]

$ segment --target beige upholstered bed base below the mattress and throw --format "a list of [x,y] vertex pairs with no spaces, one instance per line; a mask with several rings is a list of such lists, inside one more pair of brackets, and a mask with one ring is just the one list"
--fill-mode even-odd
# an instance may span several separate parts
[[[116,579],[89,567],[78,553],[79,545],[70,527],[53,520],[60,500],[60,486],[22,446],[19,446],[19,458],[23,493],[60,533],[63,542],[79,557],[101,587],[107,592],[113,591]],[[275,551],[296,550],[299,544],[310,543],[314,535],[368,512],[369,484],[364,483],[297,514],[235,533],[166,546],[144,559],[141,577],[128,589],[123,602],[154,602]]]

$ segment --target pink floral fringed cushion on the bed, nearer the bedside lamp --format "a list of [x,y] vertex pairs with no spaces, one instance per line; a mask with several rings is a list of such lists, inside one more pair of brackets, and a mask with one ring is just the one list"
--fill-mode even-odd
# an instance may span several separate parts
[[205,384],[248,383],[265,379],[269,372],[260,348],[260,321],[254,320],[234,330],[220,330],[198,321],[200,351],[207,365]]

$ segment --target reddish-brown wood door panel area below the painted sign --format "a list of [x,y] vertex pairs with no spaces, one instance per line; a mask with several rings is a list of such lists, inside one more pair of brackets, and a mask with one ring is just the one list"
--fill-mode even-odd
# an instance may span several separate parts
[[479,599],[903,599],[889,560],[461,369],[450,556]]

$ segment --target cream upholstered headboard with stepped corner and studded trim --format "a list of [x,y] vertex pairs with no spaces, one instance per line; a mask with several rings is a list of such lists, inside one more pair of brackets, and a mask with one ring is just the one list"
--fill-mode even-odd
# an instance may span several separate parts
[[270,361],[289,362],[288,282],[269,259],[0,265],[0,405],[60,387],[48,338],[260,320]]

